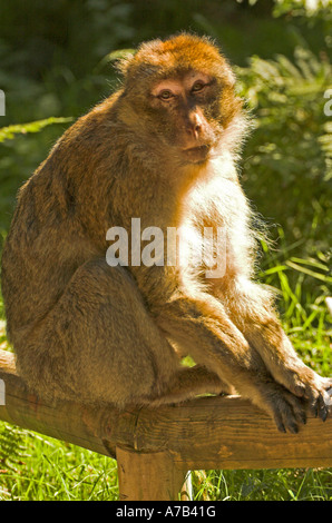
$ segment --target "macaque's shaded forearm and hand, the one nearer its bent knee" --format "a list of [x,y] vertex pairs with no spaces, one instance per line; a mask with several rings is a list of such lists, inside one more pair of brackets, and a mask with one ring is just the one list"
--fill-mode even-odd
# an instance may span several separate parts
[[212,296],[207,298],[180,297],[164,304],[155,310],[158,325],[198,364],[265,409],[279,430],[297,432],[299,423],[305,422],[301,399],[274,381],[223,306]]

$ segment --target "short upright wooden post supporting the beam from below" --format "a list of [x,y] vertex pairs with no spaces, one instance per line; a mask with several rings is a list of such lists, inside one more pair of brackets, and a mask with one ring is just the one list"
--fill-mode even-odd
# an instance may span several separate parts
[[141,453],[117,447],[120,501],[188,501],[186,472],[167,451]]

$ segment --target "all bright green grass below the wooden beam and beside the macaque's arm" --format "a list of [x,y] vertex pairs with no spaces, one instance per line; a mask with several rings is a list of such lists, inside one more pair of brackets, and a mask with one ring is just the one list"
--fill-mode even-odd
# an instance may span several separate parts
[[[324,260],[311,260],[311,268],[324,277],[316,278],[318,286],[304,295],[304,282],[314,276],[295,270],[289,259],[277,263],[275,256],[280,254],[270,254],[263,264],[261,279],[280,288],[284,327],[297,353],[316,372],[328,375],[331,316],[324,304]],[[296,264],[307,266],[304,260]],[[6,348],[6,344],[2,320],[0,346]],[[196,471],[193,485],[197,501],[331,501],[332,470]],[[0,423],[0,500],[118,500],[116,462]]]

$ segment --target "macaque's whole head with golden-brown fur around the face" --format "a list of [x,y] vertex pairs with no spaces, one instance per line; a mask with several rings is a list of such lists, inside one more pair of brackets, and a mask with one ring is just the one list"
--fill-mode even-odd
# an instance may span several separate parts
[[204,162],[241,112],[232,69],[207,39],[180,34],[144,43],[121,70],[120,119],[159,159]]

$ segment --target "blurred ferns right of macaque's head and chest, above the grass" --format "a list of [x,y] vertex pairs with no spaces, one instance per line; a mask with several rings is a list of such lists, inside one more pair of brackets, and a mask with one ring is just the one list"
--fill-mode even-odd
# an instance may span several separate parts
[[[245,149],[243,182],[260,213],[282,226],[297,251],[328,250],[332,199],[332,134],[324,92],[332,67],[307,49],[294,61],[253,57],[238,69],[254,114]],[[277,233],[277,231],[276,231]]]

